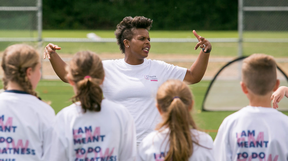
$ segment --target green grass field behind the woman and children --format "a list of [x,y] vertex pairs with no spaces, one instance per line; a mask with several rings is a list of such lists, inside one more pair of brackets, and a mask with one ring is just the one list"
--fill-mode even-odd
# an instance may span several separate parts
[[[112,30],[44,30],[43,37],[75,37],[85,38],[86,34],[94,32],[100,37],[113,38],[114,31]],[[209,40],[209,38],[237,38],[237,31],[197,31],[197,33]],[[194,38],[192,31],[149,31],[150,37],[153,38]],[[25,31],[9,31],[0,30],[1,37],[36,37],[37,32]],[[287,38],[288,32],[245,32],[245,38]],[[0,42],[0,53],[7,46],[17,42]],[[19,43],[19,42],[18,42]],[[44,47],[50,42],[43,42],[40,49],[43,51]],[[67,42],[51,42],[62,47],[58,53],[73,54],[79,50],[91,50],[96,53],[118,53],[120,55],[119,47],[116,43],[67,43]],[[28,44],[36,46],[36,43],[28,42]],[[211,57],[237,57],[238,44],[237,43],[211,43],[212,52]],[[156,43],[151,42],[150,54],[162,55],[177,54],[181,55],[198,55],[199,49],[194,51],[196,43]],[[288,43],[243,43],[244,55],[252,53],[265,53],[273,55],[274,57],[287,57]],[[2,84],[1,84],[2,85]],[[194,119],[202,130],[210,131],[209,134],[214,139],[216,136],[215,130],[219,128],[222,120],[232,114],[233,111],[224,112],[202,112],[202,100],[209,86],[209,81],[201,81],[195,85],[190,85],[195,99]],[[2,87],[2,86],[0,86]],[[69,98],[73,96],[72,87],[67,83],[55,80],[41,80],[37,87],[37,92],[45,101],[51,101],[51,106],[55,112],[59,112],[62,108],[69,106],[71,101]],[[283,112],[288,115],[288,112]]]

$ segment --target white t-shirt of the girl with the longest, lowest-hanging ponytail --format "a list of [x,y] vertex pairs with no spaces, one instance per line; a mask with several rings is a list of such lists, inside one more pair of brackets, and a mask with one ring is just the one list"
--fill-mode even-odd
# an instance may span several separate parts
[[[211,136],[195,129],[191,129],[191,132],[201,146],[193,144],[193,154],[189,161],[213,161],[213,139]],[[167,133],[168,129],[165,129],[161,133],[153,131],[147,135],[138,147],[137,161],[164,161],[170,145]]]

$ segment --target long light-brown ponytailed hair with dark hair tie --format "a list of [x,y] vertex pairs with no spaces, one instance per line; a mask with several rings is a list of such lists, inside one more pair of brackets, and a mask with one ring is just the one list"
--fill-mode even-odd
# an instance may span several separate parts
[[178,80],[168,80],[157,92],[157,104],[162,111],[163,121],[156,130],[169,129],[169,150],[165,161],[187,161],[193,153],[193,143],[198,141],[191,133],[197,129],[189,108],[192,107],[192,93],[187,85]]

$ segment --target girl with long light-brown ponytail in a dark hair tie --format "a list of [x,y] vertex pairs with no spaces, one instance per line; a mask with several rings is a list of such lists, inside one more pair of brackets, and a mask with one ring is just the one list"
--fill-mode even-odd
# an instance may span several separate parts
[[162,122],[139,145],[137,160],[214,160],[212,138],[197,130],[190,115],[193,100],[189,87],[179,80],[168,80],[159,87],[156,101]]

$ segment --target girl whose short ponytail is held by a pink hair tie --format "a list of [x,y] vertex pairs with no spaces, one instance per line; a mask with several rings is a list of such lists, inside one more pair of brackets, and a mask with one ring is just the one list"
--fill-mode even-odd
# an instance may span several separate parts
[[56,115],[47,160],[134,160],[134,120],[124,106],[103,99],[104,69],[98,55],[78,52],[66,70],[75,96]]

